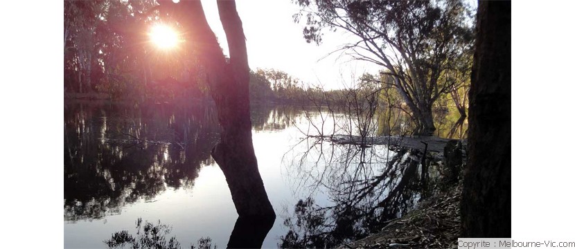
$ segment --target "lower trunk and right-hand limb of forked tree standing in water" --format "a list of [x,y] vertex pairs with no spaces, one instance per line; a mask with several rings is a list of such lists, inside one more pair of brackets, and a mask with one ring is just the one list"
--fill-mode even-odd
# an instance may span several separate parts
[[[230,59],[224,67],[224,84],[214,98],[223,131],[212,150],[220,165],[240,216],[275,216],[269,203],[251,141],[249,66],[242,21],[236,2],[218,0],[220,21],[226,33]],[[214,96],[214,94],[213,94]]]

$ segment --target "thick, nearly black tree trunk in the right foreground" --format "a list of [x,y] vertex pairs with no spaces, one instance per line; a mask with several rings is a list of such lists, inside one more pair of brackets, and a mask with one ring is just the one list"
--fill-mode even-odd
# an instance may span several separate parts
[[461,237],[511,237],[511,1],[479,1]]

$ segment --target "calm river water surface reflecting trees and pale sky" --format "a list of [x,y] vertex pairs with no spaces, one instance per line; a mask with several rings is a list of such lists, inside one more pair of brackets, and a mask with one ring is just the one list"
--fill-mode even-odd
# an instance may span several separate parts
[[[264,248],[281,246],[280,237],[290,241],[283,246],[329,245],[299,241],[322,233],[331,234],[322,235],[323,240],[354,239],[378,229],[368,223],[415,205],[416,192],[386,198],[395,193],[394,187],[409,188],[391,177],[407,169],[411,155],[405,151],[304,139],[305,133],[322,130],[356,133],[346,130],[353,125],[343,114],[326,118],[293,107],[252,107],[251,115],[258,167],[278,215]],[[135,234],[135,222],[141,218],[170,225],[166,237],[175,236],[182,248],[202,237],[224,248],[238,216],[224,175],[210,156],[218,131],[215,109],[209,104],[67,103],[64,247],[106,248],[103,241],[114,232]],[[373,188],[362,194],[366,185]],[[393,203],[393,208],[369,208],[378,203]],[[326,209],[301,215],[302,209],[320,207]]]

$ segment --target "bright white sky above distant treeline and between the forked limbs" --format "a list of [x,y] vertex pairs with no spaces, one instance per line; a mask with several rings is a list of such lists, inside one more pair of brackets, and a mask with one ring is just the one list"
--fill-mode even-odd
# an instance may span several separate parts
[[[215,0],[204,0],[202,4],[212,30],[227,53]],[[249,66],[254,70],[278,69],[312,85],[321,82],[326,89],[341,88],[342,84],[349,86],[353,78],[364,72],[378,72],[379,68],[373,64],[349,62],[348,57],[338,59],[339,53],[326,57],[349,42],[351,35],[324,30],[323,44],[306,43],[303,26],[294,24],[292,19],[298,7],[291,0],[237,0],[236,5],[247,39]]]

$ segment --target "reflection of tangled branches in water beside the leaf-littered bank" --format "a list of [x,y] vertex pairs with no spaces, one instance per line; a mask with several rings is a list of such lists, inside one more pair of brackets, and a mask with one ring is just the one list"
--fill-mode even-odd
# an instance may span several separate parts
[[[333,248],[378,232],[421,198],[423,153],[386,146],[330,145],[307,138],[306,151],[288,163],[288,178],[308,198],[286,214],[281,248]],[[427,161],[436,163],[430,155]],[[328,194],[317,203],[316,192]]]

